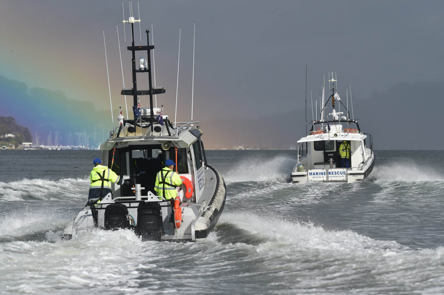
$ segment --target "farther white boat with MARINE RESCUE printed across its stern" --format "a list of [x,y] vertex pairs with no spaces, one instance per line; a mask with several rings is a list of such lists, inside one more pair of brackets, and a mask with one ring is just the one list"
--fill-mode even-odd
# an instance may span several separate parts
[[[297,141],[297,164],[291,172],[291,181],[304,184],[308,181],[319,182],[354,182],[363,181],[373,170],[375,155],[373,153],[373,138],[364,133],[358,124],[358,119],[350,118],[347,106],[334,88],[336,80],[329,80],[332,84],[332,94],[324,103],[324,89],[322,88],[322,102],[320,120],[311,122],[310,133]],[[325,116],[325,106],[332,100],[332,112]],[[344,112],[336,111],[341,105]],[[353,114],[353,111],[352,111]],[[346,142],[349,148],[349,167],[341,166],[340,146]]]

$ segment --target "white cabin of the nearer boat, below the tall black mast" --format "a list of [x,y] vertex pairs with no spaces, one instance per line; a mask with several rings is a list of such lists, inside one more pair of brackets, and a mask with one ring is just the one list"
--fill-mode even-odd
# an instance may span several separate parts
[[[165,166],[165,161],[171,159],[176,163],[174,171],[179,176],[188,178],[195,188],[190,199],[185,198],[181,192],[182,201],[198,202],[205,185],[206,160],[205,149],[200,140],[202,133],[195,132],[197,130],[182,130],[179,136],[149,136],[151,140],[146,138],[142,142],[135,141],[134,136],[110,138],[101,147],[105,149],[102,154],[103,162],[131,184],[140,184],[143,199],[149,192],[156,195],[154,190],[156,175]],[[183,136],[191,142],[184,142]],[[158,140],[155,137],[159,137]],[[131,187],[112,184],[111,189],[113,198],[135,196]]]

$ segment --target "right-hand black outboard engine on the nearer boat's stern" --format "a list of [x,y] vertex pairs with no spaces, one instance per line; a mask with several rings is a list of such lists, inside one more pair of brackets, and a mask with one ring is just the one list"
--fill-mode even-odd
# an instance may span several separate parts
[[137,208],[136,233],[142,240],[160,240],[163,233],[162,208],[159,202],[140,202]]

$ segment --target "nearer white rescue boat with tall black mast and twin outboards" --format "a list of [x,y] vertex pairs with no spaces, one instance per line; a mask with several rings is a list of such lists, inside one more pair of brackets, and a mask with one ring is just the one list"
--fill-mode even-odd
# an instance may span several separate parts
[[[163,107],[153,106],[153,95],[165,93],[151,83],[151,50],[149,30],[147,45],[135,45],[134,17],[124,20],[131,25],[132,86],[122,95],[133,97],[134,119],[119,114],[119,126],[110,132],[100,146],[103,165],[130,182],[130,186],[112,184],[108,194],[97,203],[83,208],[65,228],[65,238],[75,237],[94,228],[132,229],[145,240],[202,241],[218,222],[226,201],[222,176],[207,162],[199,122],[170,122]],[[147,59],[136,53],[146,51]],[[136,74],[148,73],[149,88],[139,90]],[[140,108],[139,96],[149,95],[149,108]],[[139,114],[140,113],[140,114]],[[182,179],[178,198],[172,204],[154,190],[156,174],[171,159],[174,171]],[[87,199],[87,194],[85,194]]]

